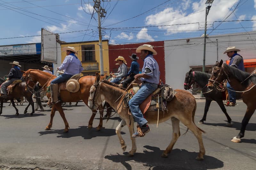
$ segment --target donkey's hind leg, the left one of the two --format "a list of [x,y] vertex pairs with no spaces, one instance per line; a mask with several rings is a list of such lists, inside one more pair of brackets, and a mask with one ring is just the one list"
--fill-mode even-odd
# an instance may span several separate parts
[[171,143],[167,146],[167,148],[164,150],[164,152],[161,155],[164,158],[168,157],[168,153],[172,151],[174,144],[180,137],[180,120],[175,117],[171,117],[171,121],[172,121],[172,140],[171,140]]

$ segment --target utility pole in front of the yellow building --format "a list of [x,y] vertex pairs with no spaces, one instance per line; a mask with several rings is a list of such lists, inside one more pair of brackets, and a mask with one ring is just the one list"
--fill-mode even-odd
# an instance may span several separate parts
[[100,46],[100,74],[103,75],[104,74],[104,66],[103,66],[103,54],[102,54],[102,35],[101,35],[101,21],[100,19],[102,17],[105,17],[107,12],[105,11],[105,9],[103,9],[100,6],[100,0],[93,0],[94,2],[94,10],[97,11],[98,13],[98,29],[99,29],[99,46]]

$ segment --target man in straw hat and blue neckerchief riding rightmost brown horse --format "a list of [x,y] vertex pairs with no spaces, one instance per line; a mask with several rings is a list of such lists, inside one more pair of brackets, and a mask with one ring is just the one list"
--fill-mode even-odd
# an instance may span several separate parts
[[[237,54],[237,51],[240,51],[240,50],[237,49],[236,47],[228,47],[223,54],[227,53],[228,57],[230,57],[230,61],[228,65],[230,65],[231,67],[235,67],[239,70],[245,71],[244,59],[241,55]],[[228,82],[227,82],[227,87],[228,87],[228,96],[229,96],[228,106],[236,106],[236,92],[231,91],[234,89],[230,86]]]

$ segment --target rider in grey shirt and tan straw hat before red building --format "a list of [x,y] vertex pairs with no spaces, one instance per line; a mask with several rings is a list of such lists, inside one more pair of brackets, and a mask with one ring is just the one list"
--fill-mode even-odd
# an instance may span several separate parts
[[[124,59],[123,56],[118,56],[115,61],[118,62],[118,64],[120,65],[117,73],[111,73],[110,75],[114,78],[113,80],[111,80],[111,83],[118,83],[122,78],[124,78],[124,76],[127,73],[127,66],[126,66],[126,61]],[[119,71],[120,70],[120,71]]]

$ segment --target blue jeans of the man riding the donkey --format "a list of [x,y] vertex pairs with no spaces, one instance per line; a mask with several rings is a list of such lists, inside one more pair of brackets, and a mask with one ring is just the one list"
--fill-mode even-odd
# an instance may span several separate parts
[[140,111],[140,104],[156,90],[157,86],[157,84],[152,83],[142,84],[140,90],[129,101],[129,106],[133,118],[139,124],[140,127],[148,123],[148,121],[143,117],[143,114]]

